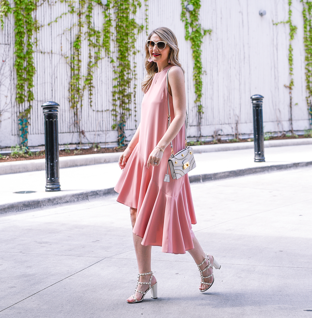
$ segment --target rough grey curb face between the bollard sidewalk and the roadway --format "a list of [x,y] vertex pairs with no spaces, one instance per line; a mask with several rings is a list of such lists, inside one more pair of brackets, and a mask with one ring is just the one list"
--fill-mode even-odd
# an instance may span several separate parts
[[[278,170],[303,168],[303,167],[308,167],[311,165],[312,165],[312,161],[294,162],[294,163],[264,166],[264,167],[253,167],[253,168],[246,168],[246,169],[237,169],[237,170],[231,170],[231,171],[223,171],[223,172],[189,176],[189,180],[191,183],[206,182],[206,181],[220,180],[220,179],[233,178],[233,177],[239,177],[239,176],[246,176],[246,175],[257,174],[257,173],[270,173],[270,172],[274,172]],[[27,200],[27,201],[19,201],[14,203],[2,204],[0,205],[0,215],[4,215],[7,213],[30,211],[34,209],[44,209],[46,207],[51,207],[53,205],[59,205],[59,204],[72,204],[72,203],[97,199],[100,197],[106,197],[111,195],[117,195],[117,192],[115,192],[113,188],[103,189],[103,190],[83,191],[80,193],[60,195],[60,196],[51,197],[51,198],[42,198],[38,200]]]

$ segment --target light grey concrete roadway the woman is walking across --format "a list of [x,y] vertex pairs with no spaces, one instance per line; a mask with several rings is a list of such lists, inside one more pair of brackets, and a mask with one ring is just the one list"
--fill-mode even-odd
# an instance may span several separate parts
[[200,293],[188,253],[153,247],[159,298],[139,304],[125,301],[137,264],[115,197],[3,215],[0,317],[312,317],[311,180],[303,168],[193,183],[195,235],[222,264],[215,283]]

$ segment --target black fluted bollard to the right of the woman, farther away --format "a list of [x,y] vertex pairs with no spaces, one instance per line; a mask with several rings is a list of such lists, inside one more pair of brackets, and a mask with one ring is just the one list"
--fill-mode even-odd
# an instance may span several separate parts
[[261,95],[252,95],[253,140],[255,146],[255,162],[264,162],[264,134]]

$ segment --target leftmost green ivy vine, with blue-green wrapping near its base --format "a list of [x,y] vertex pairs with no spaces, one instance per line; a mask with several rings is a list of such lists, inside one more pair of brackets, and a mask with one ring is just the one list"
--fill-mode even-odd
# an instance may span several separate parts
[[32,88],[33,77],[36,69],[33,60],[33,35],[38,31],[37,20],[33,18],[33,12],[37,9],[36,0],[15,0],[15,6],[11,8],[9,1],[0,0],[1,28],[4,27],[4,17],[14,15],[15,44],[14,67],[16,69],[16,102],[18,104],[18,125],[20,131],[21,145],[27,146],[28,126],[32,101],[34,100]]

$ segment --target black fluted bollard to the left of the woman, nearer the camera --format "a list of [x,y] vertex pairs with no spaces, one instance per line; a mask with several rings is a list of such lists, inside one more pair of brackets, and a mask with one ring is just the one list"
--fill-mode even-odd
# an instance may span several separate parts
[[57,115],[59,104],[47,101],[43,108],[45,120],[46,191],[60,191],[59,135]]

